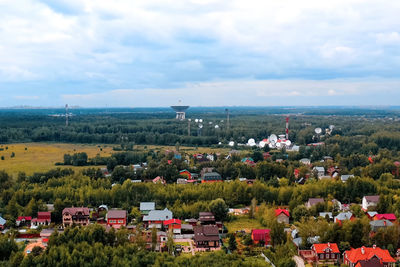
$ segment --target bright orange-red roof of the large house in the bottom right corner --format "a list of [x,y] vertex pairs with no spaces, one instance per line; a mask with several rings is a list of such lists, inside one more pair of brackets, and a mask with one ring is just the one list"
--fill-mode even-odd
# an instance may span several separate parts
[[357,263],[361,260],[369,260],[374,256],[377,256],[382,262],[396,262],[389,254],[387,249],[381,249],[379,247],[361,247],[352,248],[344,252],[345,256],[351,263]]

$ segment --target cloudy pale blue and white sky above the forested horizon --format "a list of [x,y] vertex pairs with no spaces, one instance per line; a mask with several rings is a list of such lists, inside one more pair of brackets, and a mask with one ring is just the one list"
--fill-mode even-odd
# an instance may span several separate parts
[[0,0],[0,106],[399,105],[398,0]]

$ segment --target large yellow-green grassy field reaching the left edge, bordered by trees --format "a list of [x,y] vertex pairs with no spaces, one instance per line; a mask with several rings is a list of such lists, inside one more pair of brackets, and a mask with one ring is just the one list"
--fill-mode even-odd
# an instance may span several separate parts
[[[6,150],[6,147],[8,149]],[[64,166],[55,166],[56,162],[64,161],[64,154],[74,154],[79,152],[86,152],[89,156],[95,157],[97,154],[100,156],[110,156],[112,152],[112,145],[104,146],[101,148],[97,145],[77,145],[77,144],[52,144],[52,143],[23,143],[23,144],[9,144],[1,145],[3,151],[0,151],[0,157],[4,156],[4,160],[0,160],[0,170],[5,170],[9,174],[16,175],[18,172],[25,172],[31,175],[34,172],[44,172],[56,167],[63,168]],[[27,150],[25,150],[27,148]],[[15,157],[11,158],[11,153],[15,153]],[[64,168],[71,168],[65,166]],[[81,167],[72,167],[78,169]]]

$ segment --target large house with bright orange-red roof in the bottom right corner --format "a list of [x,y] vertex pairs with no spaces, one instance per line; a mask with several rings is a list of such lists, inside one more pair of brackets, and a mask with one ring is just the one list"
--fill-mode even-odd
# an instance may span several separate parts
[[384,267],[395,266],[396,261],[390,256],[389,251],[375,245],[372,248],[364,246],[356,249],[352,248],[343,253],[343,263],[350,267],[357,266],[360,261],[368,261],[373,258],[379,259]]

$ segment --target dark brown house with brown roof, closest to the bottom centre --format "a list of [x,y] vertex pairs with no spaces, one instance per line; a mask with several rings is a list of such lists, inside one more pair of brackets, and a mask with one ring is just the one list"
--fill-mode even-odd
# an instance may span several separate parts
[[219,230],[216,225],[194,227],[194,243],[197,248],[218,248],[220,246]]

